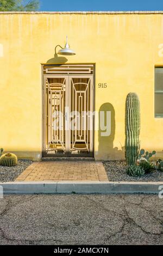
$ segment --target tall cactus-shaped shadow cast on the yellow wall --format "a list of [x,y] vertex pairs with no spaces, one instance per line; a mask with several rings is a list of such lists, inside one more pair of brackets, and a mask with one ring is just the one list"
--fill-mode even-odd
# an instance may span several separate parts
[[[109,136],[102,136],[102,133],[105,132],[101,127],[100,112],[104,112],[106,126],[106,112],[111,112],[111,133]],[[110,124],[109,124],[110,125]],[[115,138],[115,109],[111,103],[104,103],[99,108],[99,129],[98,129],[98,159],[102,160],[124,160],[124,147],[122,150],[113,147],[113,142]],[[121,145],[122,146],[122,145]]]

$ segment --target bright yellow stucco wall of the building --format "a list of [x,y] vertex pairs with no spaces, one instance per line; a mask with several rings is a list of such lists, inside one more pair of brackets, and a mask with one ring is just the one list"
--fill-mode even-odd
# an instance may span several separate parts
[[[163,157],[163,119],[154,118],[154,66],[163,64],[162,14],[0,14],[0,147],[20,157],[41,157],[41,63],[54,57],[55,45],[64,45],[66,35],[77,52],[67,56],[68,63],[96,63],[96,111],[108,103],[115,112],[111,137],[95,132],[96,159],[124,156],[129,92],[140,97],[141,148]],[[98,83],[108,87],[99,89]]]

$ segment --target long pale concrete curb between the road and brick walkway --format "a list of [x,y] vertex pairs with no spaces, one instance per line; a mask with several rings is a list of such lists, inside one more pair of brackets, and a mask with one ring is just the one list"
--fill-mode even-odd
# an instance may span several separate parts
[[[162,188],[160,187],[162,185]],[[0,183],[4,194],[34,193],[153,193],[163,190],[162,182],[109,182],[109,181],[41,181]],[[159,188],[160,187],[160,188]]]

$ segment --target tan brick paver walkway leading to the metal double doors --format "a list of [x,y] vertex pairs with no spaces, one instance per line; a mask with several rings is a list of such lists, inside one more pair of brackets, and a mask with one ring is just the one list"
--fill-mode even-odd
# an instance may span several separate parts
[[102,162],[53,161],[32,163],[15,181],[108,181]]

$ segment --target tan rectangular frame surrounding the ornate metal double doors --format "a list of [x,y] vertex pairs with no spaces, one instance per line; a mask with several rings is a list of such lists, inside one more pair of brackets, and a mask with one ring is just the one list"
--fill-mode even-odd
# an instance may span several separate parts
[[[66,63],[67,64],[67,63]],[[81,63],[80,63],[81,64]],[[90,63],[89,63],[90,64]],[[66,151],[65,154],[50,154],[48,155],[46,153],[46,118],[45,118],[45,113],[46,113],[46,87],[45,87],[45,81],[47,77],[56,77],[56,78],[66,78],[66,80],[70,80],[70,77],[80,77],[81,74],[60,74],[60,75],[54,75],[54,74],[48,74],[45,75],[43,74],[43,66],[47,64],[41,64],[42,68],[42,157],[94,157],[94,150],[95,150],[95,116],[93,117],[93,130],[92,130],[92,151],[89,155],[85,154],[70,154],[68,151]],[[57,64],[48,64],[48,66],[56,66]],[[58,65],[64,65],[64,64],[58,64]],[[67,64],[68,65],[68,64]],[[74,64],[76,65],[76,64]],[[78,65],[78,64],[77,64]],[[82,65],[82,64],[81,64]],[[85,64],[84,64],[85,65]],[[92,111],[95,111],[95,64],[93,63],[94,66],[94,74],[93,75],[88,75],[85,74],[85,76],[92,76]],[[82,78],[83,76],[81,76]],[[70,90],[68,90],[68,87],[66,89],[67,94],[70,94]],[[66,94],[66,92],[65,92]],[[67,100],[66,100],[67,101]],[[70,95],[68,97],[68,101],[65,102],[65,105],[67,103],[67,106],[70,106]],[[67,136],[66,136],[67,137]],[[65,137],[65,139],[66,139]],[[68,138],[65,141],[65,149],[68,147]]]

